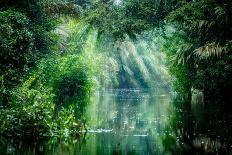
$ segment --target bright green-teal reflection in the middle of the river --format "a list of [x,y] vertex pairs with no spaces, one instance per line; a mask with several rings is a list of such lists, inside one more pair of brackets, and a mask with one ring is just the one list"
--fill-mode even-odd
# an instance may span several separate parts
[[103,92],[94,100],[96,103],[86,111],[89,120],[86,148],[94,151],[92,154],[164,151],[162,137],[171,117],[169,96],[127,89]]

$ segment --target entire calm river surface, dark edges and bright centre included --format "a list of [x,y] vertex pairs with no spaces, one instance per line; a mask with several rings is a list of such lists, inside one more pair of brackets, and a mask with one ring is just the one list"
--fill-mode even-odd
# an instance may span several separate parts
[[[224,111],[224,113],[222,113]],[[232,118],[225,109],[189,106],[147,90],[98,92],[86,108],[88,132],[45,142],[0,139],[0,154],[231,154]]]

